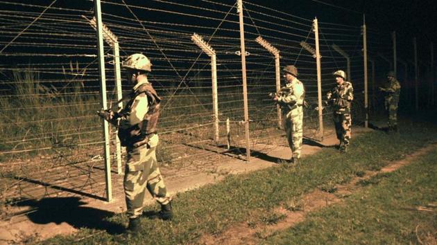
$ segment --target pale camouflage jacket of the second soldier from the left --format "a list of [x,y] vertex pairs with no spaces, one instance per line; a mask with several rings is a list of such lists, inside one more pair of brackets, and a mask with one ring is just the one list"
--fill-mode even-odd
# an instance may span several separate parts
[[305,88],[297,78],[287,83],[277,94],[277,103],[283,112],[302,106],[305,99]]

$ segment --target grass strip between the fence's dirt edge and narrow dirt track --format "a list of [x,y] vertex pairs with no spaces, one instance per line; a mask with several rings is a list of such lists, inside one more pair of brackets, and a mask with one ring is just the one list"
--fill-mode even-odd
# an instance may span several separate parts
[[[105,231],[94,234],[98,230],[84,228],[76,235],[53,237],[44,244],[187,244],[196,243],[205,233],[219,234],[240,222],[274,223],[282,217],[265,215],[269,210],[277,206],[299,209],[298,197],[302,194],[314,188],[329,191],[332,185],[348,182],[366,170],[379,170],[389,161],[404,158],[437,138],[433,123],[404,125],[400,136],[374,131],[354,138],[347,154],[325,148],[294,167],[277,166],[228,176],[221,183],[178,194],[173,205],[175,219],[171,222],[143,219],[143,232],[137,235],[111,235]],[[155,206],[148,210],[155,210]],[[114,215],[110,221],[121,225],[126,224],[127,218],[123,214]]]

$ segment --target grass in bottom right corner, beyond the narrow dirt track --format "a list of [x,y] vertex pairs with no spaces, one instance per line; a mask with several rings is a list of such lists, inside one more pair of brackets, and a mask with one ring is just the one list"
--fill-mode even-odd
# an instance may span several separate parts
[[[377,174],[346,203],[324,208],[265,244],[436,244],[437,151]],[[361,183],[362,184],[362,183]]]

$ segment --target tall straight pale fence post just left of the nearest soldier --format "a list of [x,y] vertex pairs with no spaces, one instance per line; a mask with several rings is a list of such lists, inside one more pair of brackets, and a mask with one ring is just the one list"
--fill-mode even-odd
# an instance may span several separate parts
[[[98,73],[100,78],[100,94],[103,109],[107,109],[106,101],[106,77],[105,77],[105,53],[103,53],[103,31],[101,18],[100,0],[94,0],[94,12],[96,15],[96,34],[98,50]],[[108,121],[103,120],[103,137],[105,138],[105,182],[106,182],[106,201],[112,201],[112,183],[111,183],[111,163],[110,163],[110,137],[108,130]]]

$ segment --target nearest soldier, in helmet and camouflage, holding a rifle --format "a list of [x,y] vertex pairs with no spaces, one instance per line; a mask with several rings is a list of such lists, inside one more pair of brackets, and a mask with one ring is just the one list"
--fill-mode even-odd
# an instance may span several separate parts
[[139,230],[146,188],[161,205],[160,217],[173,217],[171,198],[167,194],[155,155],[161,98],[147,79],[151,66],[146,56],[140,53],[130,55],[123,62],[128,82],[133,86],[129,101],[117,112],[110,109],[98,112],[99,116],[118,127],[121,145],[126,147],[128,154],[123,186],[130,232]]

